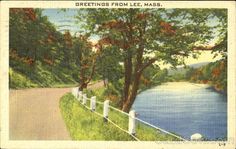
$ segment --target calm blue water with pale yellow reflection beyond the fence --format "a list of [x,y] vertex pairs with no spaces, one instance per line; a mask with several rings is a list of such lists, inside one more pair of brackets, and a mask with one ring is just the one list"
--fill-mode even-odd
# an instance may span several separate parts
[[227,136],[226,96],[208,85],[169,82],[140,93],[138,117],[186,139],[200,133],[210,140]]

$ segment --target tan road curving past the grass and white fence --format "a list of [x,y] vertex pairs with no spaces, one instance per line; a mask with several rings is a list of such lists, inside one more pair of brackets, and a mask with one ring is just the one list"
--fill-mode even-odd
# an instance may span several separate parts
[[[102,82],[90,85],[98,88]],[[10,140],[70,140],[59,100],[71,88],[10,90]]]

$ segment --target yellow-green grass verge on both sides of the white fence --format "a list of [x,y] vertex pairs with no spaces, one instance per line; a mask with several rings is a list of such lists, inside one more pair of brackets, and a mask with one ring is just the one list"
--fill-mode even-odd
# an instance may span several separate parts
[[[87,105],[89,106],[89,103]],[[102,114],[103,105],[96,106],[96,112]],[[134,140],[128,133],[109,122],[104,122],[102,117],[86,109],[71,93],[61,98],[60,109],[73,140]],[[110,109],[109,119],[128,130],[128,116]],[[178,141],[177,138],[161,133],[150,126],[138,121],[136,123],[136,137],[142,141]]]

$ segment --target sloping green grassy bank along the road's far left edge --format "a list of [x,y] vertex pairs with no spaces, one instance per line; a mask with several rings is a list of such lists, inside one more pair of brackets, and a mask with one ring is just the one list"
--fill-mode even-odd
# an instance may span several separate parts
[[35,87],[60,88],[77,85],[73,75],[78,73],[72,72],[68,68],[51,67],[40,62],[35,67],[21,65],[10,67],[9,69],[9,85],[12,89]]

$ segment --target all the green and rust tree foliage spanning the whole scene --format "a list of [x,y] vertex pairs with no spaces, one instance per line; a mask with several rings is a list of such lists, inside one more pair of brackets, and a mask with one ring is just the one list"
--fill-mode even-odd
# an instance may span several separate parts
[[[78,82],[83,90],[92,80],[107,79],[105,95],[129,111],[139,91],[184,78],[181,74],[168,78],[167,70],[160,70],[156,62],[175,67],[184,64],[186,57],[197,58],[199,49],[211,50],[227,61],[225,9],[80,9],[76,17],[84,33],[72,36],[57,31],[41,9],[10,9],[9,55],[14,72],[10,87]],[[218,23],[209,24],[210,19]],[[204,47],[215,31],[216,44]],[[90,41],[93,36],[99,39],[96,44]],[[226,90],[226,66],[217,66],[198,70],[195,78],[191,70],[186,77],[208,80]]]

